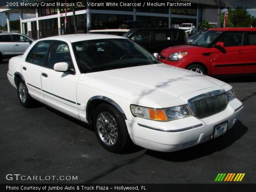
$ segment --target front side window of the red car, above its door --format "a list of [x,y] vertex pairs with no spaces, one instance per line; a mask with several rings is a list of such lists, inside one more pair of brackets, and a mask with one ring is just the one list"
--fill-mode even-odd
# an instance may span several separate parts
[[220,37],[220,42],[224,42],[225,47],[230,47],[230,46],[240,46],[242,45],[242,40],[243,40],[243,34],[244,32],[238,31],[229,31],[225,32],[221,37]]

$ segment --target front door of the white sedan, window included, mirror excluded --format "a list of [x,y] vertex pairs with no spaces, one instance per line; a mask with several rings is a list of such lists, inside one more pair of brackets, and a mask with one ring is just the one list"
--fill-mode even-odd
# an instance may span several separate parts
[[[69,71],[58,72],[54,70],[54,64],[67,62]],[[70,70],[71,69],[71,70]],[[76,100],[76,83],[80,74],[74,70],[74,65],[66,42],[55,41],[50,51],[48,64],[41,74],[42,93],[44,102],[74,118],[78,118],[78,107]]]

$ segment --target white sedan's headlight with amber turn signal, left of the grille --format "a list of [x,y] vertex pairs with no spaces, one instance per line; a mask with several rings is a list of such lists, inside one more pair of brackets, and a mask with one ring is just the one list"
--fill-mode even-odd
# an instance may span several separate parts
[[134,116],[158,121],[168,121],[190,116],[187,105],[170,107],[165,109],[152,109],[137,105],[131,105],[131,112]]

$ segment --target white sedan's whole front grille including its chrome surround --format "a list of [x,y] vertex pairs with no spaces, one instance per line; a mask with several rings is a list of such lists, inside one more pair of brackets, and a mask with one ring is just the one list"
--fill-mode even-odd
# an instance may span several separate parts
[[228,96],[224,90],[201,94],[188,100],[188,106],[194,116],[205,118],[224,110],[228,105]]

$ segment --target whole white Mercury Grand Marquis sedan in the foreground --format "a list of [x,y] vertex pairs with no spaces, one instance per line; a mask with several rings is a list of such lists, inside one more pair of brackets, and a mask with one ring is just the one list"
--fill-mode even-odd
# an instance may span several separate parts
[[37,40],[10,59],[7,76],[22,106],[38,100],[91,124],[116,153],[131,141],[162,152],[206,142],[230,129],[243,108],[230,85],[162,64],[120,36]]

